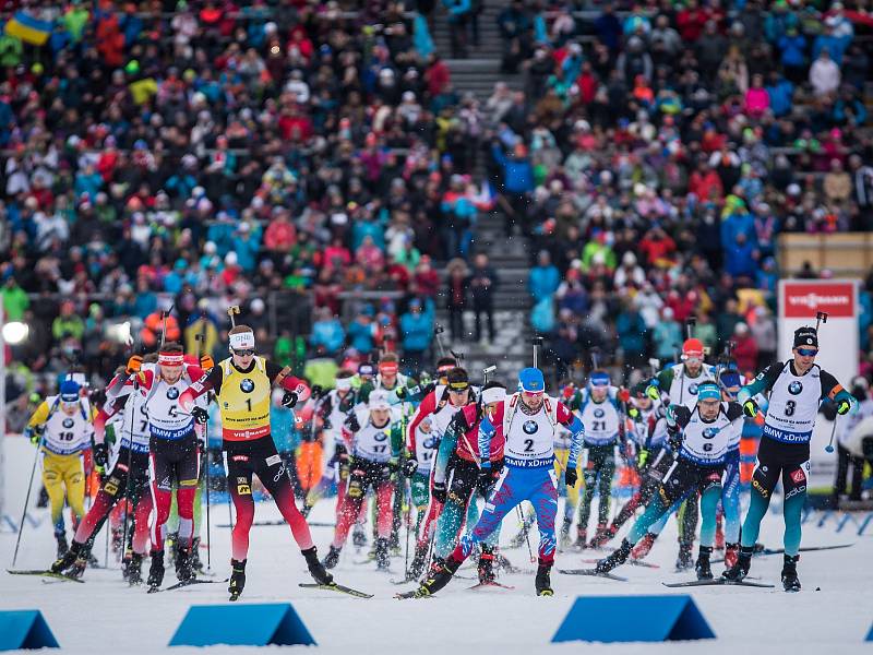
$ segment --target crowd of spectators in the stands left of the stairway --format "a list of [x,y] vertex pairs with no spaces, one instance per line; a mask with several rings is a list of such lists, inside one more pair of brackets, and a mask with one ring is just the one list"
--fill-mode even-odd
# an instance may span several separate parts
[[0,35],[0,275],[29,372],[105,378],[125,323],[152,346],[170,306],[189,347],[204,312],[224,343],[240,305],[260,349],[300,369],[378,347],[419,365],[434,260],[469,257],[492,202],[470,175],[481,111],[423,15],[73,0],[0,3],[0,21],[19,10],[52,26],[41,47]]

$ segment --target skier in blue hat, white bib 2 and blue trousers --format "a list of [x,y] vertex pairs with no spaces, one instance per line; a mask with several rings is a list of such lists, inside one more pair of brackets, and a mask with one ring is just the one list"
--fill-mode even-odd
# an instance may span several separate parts
[[557,540],[554,519],[558,513],[558,479],[554,471],[554,431],[559,424],[571,432],[570,456],[564,477],[567,486],[577,480],[576,463],[585,429],[582,421],[563,403],[546,395],[542,371],[526,368],[518,378],[519,391],[497,403],[479,429],[479,452],[490,451],[491,438],[502,427],[506,439],[504,468],[473,532],[445,560],[444,565],[428,573],[421,585],[398,598],[424,598],[443,588],[464,560],[485,541],[503,517],[522,501],[529,501],[537,513],[539,526],[539,567],[536,591],[538,596],[552,596],[550,572],[554,563]]

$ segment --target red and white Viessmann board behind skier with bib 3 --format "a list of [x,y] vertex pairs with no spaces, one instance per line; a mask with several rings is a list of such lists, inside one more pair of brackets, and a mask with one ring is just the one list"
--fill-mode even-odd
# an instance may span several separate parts
[[815,326],[815,313],[827,312],[818,330],[816,362],[844,385],[858,374],[858,283],[853,279],[782,279],[779,282],[779,354],[791,357],[794,330]]

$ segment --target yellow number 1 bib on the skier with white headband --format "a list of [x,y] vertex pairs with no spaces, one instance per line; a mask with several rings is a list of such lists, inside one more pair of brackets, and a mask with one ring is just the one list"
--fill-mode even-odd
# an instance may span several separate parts
[[270,434],[270,395],[272,383],[266,377],[262,357],[247,373],[239,371],[227,358],[222,367],[222,433],[225,441],[248,441]]

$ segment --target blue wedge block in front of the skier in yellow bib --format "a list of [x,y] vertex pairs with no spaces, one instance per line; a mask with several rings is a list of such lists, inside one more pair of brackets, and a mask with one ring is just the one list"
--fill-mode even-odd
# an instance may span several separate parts
[[270,605],[192,605],[171,646],[314,646],[315,640],[287,603]]

